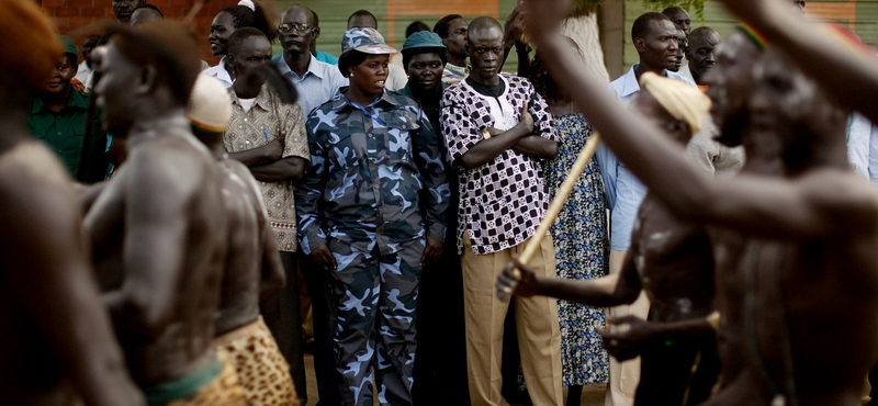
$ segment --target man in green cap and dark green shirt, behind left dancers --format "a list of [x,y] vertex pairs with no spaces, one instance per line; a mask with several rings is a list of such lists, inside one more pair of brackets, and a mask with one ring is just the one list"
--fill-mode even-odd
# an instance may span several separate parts
[[[106,176],[106,134],[97,120],[91,133],[86,134],[89,93],[70,84],[77,72],[78,53],[69,36],[61,35],[60,40],[64,55],[55,60],[55,70],[27,112],[27,125],[35,138],[58,155],[70,177],[83,183],[99,182]],[[80,161],[81,158],[85,159]]]

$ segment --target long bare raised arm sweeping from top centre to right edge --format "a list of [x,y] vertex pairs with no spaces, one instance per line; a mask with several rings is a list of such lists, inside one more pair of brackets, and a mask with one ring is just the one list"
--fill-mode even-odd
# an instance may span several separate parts
[[836,182],[831,176],[821,178],[826,184],[810,178],[797,182],[755,177],[713,181],[687,161],[685,150],[663,135],[663,129],[626,110],[597,78],[581,68],[582,60],[559,31],[570,0],[558,0],[552,7],[536,0],[527,4],[538,25],[533,32],[540,53],[555,60],[549,65],[550,74],[565,78],[574,101],[606,144],[668,208],[688,218],[781,238],[844,233],[876,215],[870,191]]

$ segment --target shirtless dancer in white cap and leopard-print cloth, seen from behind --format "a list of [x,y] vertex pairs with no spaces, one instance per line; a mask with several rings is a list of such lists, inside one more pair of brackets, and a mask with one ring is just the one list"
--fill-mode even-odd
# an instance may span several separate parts
[[214,346],[235,365],[250,406],[297,406],[290,365],[259,316],[259,298],[281,290],[285,277],[256,179],[223,146],[232,100],[223,82],[199,75],[189,108],[192,133],[224,174],[229,233]]

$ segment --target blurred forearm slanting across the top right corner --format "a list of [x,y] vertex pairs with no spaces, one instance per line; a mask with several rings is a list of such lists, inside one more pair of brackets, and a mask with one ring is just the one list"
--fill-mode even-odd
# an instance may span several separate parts
[[878,122],[878,64],[873,57],[845,46],[829,25],[801,19],[790,10],[789,0],[721,1],[762,32],[772,46],[786,50],[803,71],[834,91],[838,102]]

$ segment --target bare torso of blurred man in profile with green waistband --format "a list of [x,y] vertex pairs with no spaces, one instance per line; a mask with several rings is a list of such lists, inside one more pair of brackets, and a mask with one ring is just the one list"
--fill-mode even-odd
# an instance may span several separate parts
[[[219,170],[188,128],[178,125],[155,129],[156,133],[162,131],[165,134],[160,136],[143,135],[136,142],[134,137],[128,140],[131,150],[125,166],[110,180],[86,217],[86,227],[95,247],[108,238],[119,238],[103,243],[104,248],[116,251],[95,256],[98,274],[121,273],[123,278],[115,279],[128,281],[142,278],[133,274],[135,267],[142,269],[138,260],[160,255],[138,252],[137,244],[127,240],[154,232],[138,230],[128,224],[132,210],[143,204],[132,200],[132,189],[146,188],[149,193],[172,200],[184,211],[179,218],[168,219],[170,228],[181,236],[182,246],[158,247],[181,255],[179,269],[161,270],[169,272],[175,290],[168,293],[172,295],[170,322],[156,336],[149,337],[143,334],[147,327],[127,323],[121,326],[115,319],[128,368],[142,387],[180,379],[214,360],[211,340],[219,302],[221,263],[225,259],[226,224]],[[162,166],[164,172],[157,174],[157,166]],[[121,270],[110,268],[120,264]],[[121,284],[124,287],[125,282]],[[137,289],[132,287],[130,292]]]

